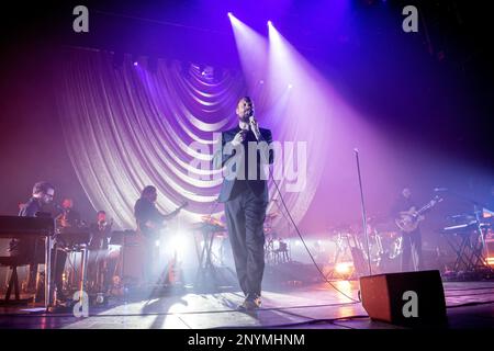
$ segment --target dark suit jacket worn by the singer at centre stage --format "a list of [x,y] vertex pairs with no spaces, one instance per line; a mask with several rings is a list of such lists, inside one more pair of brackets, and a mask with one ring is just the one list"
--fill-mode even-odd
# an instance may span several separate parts
[[[222,132],[221,148],[217,147],[213,158],[215,169],[224,168],[218,201],[227,202],[231,200],[235,186],[248,186],[256,196],[261,197],[267,203],[269,195],[263,166],[271,165],[274,159],[273,150],[269,147],[272,144],[271,131],[259,128],[259,141],[249,131],[243,145],[234,148],[232,140],[238,132],[240,132],[239,126]],[[248,157],[249,147],[254,150],[251,158],[256,159],[251,166],[249,165],[251,160]]]

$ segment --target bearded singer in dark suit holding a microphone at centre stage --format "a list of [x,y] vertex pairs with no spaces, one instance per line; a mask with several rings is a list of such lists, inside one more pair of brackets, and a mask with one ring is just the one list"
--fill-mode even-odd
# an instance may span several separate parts
[[261,304],[263,222],[269,201],[265,166],[273,162],[272,136],[271,131],[259,128],[250,98],[238,101],[236,114],[238,125],[222,133],[213,162],[224,170],[218,201],[225,204],[237,278],[246,296],[239,309],[250,310]]

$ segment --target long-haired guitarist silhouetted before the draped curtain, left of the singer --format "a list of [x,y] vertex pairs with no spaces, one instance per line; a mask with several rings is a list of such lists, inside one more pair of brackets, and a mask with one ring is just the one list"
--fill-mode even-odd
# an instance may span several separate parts
[[173,211],[168,215],[161,214],[158,208],[156,208],[156,200],[158,199],[158,193],[156,188],[153,185],[147,185],[141,193],[141,197],[137,200],[134,206],[134,216],[137,223],[137,231],[143,236],[144,239],[144,251],[146,254],[145,262],[145,281],[147,283],[153,282],[154,267],[157,262],[157,249],[156,240],[159,238],[159,230],[164,227],[164,222],[171,219],[176,216],[180,208]]

